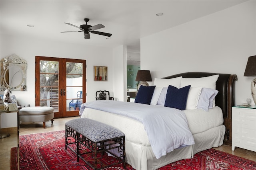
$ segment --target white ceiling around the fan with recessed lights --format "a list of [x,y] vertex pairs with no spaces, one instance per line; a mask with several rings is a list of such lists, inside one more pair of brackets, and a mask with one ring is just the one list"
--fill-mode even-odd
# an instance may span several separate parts
[[[82,45],[140,51],[140,38],[245,2],[244,0],[1,0],[1,34],[34,37]],[[163,13],[163,16],[156,16]],[[101,23],[97,31],[112,33],[111,39],[90,34],[84,39],[78,27]],[[32,24],[34,27],[28,27]]]

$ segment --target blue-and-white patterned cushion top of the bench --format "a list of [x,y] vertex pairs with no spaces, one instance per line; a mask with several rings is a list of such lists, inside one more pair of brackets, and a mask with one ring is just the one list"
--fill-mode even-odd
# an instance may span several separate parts
[[124,136],[120,130],[88,118],[72,119],[65,124],[94,142]]

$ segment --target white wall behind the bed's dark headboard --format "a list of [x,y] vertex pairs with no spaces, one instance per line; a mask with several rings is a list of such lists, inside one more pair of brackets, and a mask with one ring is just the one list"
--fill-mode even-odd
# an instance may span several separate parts
[[140,42],[141,69],[150,70],[153,80],[191,71],[236,74],[236,104],[252,99],[250,83],[255,77],[244,77],[244,70],[248,57],[256,55],[256,1],[144,37]]

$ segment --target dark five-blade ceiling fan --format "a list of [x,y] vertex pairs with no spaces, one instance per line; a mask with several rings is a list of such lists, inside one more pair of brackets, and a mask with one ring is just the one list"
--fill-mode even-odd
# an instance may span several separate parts
[[95,31],[96,29],[100,29],[100,28],[104,28],[105,26],[102,25],[102,24],[97,24],[97,25],[87,25],[87,22],[89,21],[88,18],[84,18],[84,21],[86,22],[86,24],[83,24],[83,25],[80,25],[80,27],[76,26],[76,25],[73,25],[71,23],[67,23],[67,22],[64,22],[68,25],[71,25],[73,27],[76,27],[78,29],[80,29],[80,31],[62,31],[61,33],[68,33],[68,32],[84,32],[84,39],[90,39],[90,33],[94,33],[94,34],[98,34],[98,35],[104,35],[104,36],[107,36],[107,37],[110,37],[112,34],[110,33],[104,33],[104,32],[100,32],[100,31]]

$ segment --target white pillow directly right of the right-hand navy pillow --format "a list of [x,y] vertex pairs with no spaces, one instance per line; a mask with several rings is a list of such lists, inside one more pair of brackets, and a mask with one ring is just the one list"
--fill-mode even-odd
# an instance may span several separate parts
[[188,99],[186,109],[196,109],[202,87],[190,87],[188,91]]

